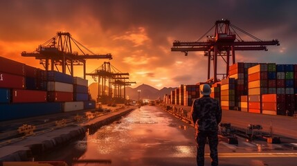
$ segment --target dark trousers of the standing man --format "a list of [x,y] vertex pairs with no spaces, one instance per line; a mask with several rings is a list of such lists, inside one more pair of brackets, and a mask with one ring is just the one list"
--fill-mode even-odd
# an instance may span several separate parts
[[217,131],[198,131],[196,136],[197,141],[197,165],[204,165],[204,147],[208,138],[210,148],[211,165],[217,166],[219,159],[217,158],[217,145],[219,138],[217,138]]

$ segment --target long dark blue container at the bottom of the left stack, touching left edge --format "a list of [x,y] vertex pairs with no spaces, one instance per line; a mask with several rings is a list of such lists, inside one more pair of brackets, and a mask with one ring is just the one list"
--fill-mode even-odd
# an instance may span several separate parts
[[0,121],[62,112],[62,102],[0,104]]

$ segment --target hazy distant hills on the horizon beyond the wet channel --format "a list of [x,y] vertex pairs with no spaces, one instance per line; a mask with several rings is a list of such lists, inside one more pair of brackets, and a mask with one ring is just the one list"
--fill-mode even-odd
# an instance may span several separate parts
[[[107,88],[106,88],[107,89]],[[146,98],[150,100],[155,100],[157,98],[163,99],[163,96],[165,94],[170,94],[171,91],[173,91],[176,88],[163,88],[161,90],[155,89],[154,87],[147,85],[147,84],[141,84],[140,86],[137,86],[136,88],[131,88],[129,86],[126,87],[126,96],[129,95],[129,98],[131,100],[138,100],[138,90],[141,90],[140,98]],[[94,82],[89,85],[89,91],[91,93],[91,98],[96,99],[98,95],[98,83]],[[124,90],[122,89],[122,94],[124,94]]]

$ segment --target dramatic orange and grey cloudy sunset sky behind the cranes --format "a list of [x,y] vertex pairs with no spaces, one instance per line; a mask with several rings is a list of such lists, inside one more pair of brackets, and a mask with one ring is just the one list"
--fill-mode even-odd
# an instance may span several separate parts
[[[237,52],[237,62],[297,64],[296,7],[295,0],[0,0],[0,56],[42,68],[21,52],[65,31],[94,53],[111,53],[111,64],[137,82],[132,87],[195,84],[207,78],[207,58],[171,52],[174,40],[195,41],[229,19],[259,39],[280,41],[269,51]],[[87,72],[107,61],[87,60]],[[75,75],[82,76],[81,66]]]

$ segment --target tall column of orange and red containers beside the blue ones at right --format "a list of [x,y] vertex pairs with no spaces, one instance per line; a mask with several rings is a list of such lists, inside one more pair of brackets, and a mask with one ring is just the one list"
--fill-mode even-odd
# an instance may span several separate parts
[[249,112],[261,113],[261,95],[268,93],[267,64],[258,64],[249,68]]

